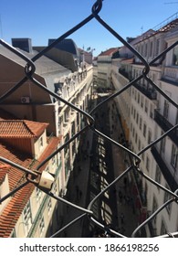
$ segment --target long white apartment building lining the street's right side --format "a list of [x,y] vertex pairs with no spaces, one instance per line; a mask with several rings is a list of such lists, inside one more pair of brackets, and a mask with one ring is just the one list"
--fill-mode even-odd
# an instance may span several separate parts
[[[149,78],[175,102],[178,102],[177,47],[162,55],[160,59],[153,59],[177,41],[177,31],[178,21],[175,18],[157,30],[150,29],[141,37],[131,39],[131,46],[149,63],[152,61]],[[112,59],[110,66],[109,77],[114,89],[122,90],[131,80],[140,77],[143,69],[144,65],[139,56],[134,55],[126,47],[120,48],[120,58]],[[107,73],[105,75],[107,76]],[[136,154],[177,123],[177,109],[173,103],[156,91],[144,76],[114,101],[120,112],[126,145]],[[140,169],[162,186],[175,191],[178,184],[176,131],[152,146],[151,150],[141,154]],[[136,185],[141,223],[155,209],[161,207],[170,195],[137,174],[130,176],[130,180],[134,180],[133,183]],[[142,229],[141,235],[150,237],[176,231],[177,216],[177,205],[172,204]]]

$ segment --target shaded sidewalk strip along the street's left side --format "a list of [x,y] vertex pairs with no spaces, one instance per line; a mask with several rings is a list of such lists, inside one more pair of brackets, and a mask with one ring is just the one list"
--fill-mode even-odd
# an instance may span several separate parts
[[[89,155],[92,142],[92,131],[88,131],[85,136],[85,143],[83,144],[83,149],[86,150],[86,153]],[[81,208],[86,208],[86,201],[88,195],[88,181],[89,181],[89,156],[83,157],[80,156],[75,165],[75,169],[72,171],[70,179],[68,181],[68,197],[69,202],[78,205]],[[64,216],[64,225],[67,225],[73,219],[76,219],[84,212],[67,207],[67,213]],[[75,224],[71,225],[68,229],[64,231],[64,236],[67,238],[81,238],[82,237],[82,225],[83,219],[80,219]],[[63,236],[63,237],[64,237]]]

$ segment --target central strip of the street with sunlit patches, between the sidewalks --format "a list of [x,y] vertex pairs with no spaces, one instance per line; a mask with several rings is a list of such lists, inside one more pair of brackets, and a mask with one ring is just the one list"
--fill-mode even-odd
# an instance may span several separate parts
[[[98,100],[103,101],[104,97]],[[100,132],[110,136],[109,123],[109,108],[108,104],[104,104],[98,112],[96,112],[96,127]],[[93,143],[91,150],[90,172],[89,172],[89,195],[88,202],[96,197],[100,191],[114,180],[113,162],[112,162],[112,148],[109,141],[103,139],[98,134],[93,135]],[[104,226],[116,229],[118,227],[117,215],[117,197],[115,187],[107,190],[102,197],[99,197],[93,207],[95,218],[99,220]],[[96,227],[89,227],[90,236],[101,236],[103,230]]]

